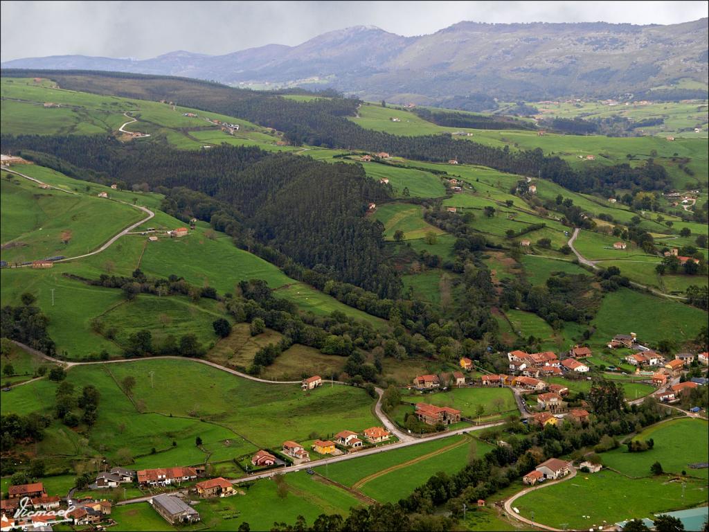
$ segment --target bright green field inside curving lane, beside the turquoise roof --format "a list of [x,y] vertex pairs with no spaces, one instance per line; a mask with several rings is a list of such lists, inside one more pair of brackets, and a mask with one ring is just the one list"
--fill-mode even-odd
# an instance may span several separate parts
[[[662,511],[688,508],[706,503],[705,481],[666,482],[665,477],[631,480],[611,471],[593,475],[583,473],[515,501],[520,515],[554,528],[586,530],[626,519],[652,518]],[[558,504],[559,501],[584,501],[584,504]]]

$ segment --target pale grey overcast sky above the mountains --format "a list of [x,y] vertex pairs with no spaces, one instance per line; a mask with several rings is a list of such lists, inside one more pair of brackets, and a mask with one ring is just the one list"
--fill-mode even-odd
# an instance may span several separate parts
[[349,26],[399,35],[460,21],[674,24],[709,1],[19,1],[0,2],[0,60],[45,55],[147,59],[174,50],[220,55],[298,45]]

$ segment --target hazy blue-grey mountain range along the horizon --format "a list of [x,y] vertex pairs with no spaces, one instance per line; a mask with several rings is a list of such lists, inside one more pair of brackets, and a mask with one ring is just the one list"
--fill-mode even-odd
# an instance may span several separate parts
[[708,21],[670,26],[461,22],[418,37],[356,26],[298,46],[273,44],[226,55],[177,51],[147,60],[60,55],[1,66],[162,74],[259,89],[333,87],[364,99],[418,104],[470,94],[543,99],[618,96],[657,87],[705,92]]

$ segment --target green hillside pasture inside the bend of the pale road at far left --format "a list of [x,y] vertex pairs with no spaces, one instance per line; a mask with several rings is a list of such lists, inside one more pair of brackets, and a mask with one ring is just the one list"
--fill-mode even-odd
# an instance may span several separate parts
[[82,255],[145,217],[116,201],[40,189],[23,177],[2,174],[0,256],[7,262]]

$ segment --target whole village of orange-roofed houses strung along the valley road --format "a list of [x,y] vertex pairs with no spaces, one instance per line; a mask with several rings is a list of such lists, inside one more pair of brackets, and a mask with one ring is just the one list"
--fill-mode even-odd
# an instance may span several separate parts
[[[631,351],[619,358],[619,365],[624,363],[635,367],[635,376],[652,384],[655,391],[651,397],[661,404],[676,404],[683,394],[708,384],[705,377],[687,379],[686,372],[691,365],[706,368],[709,365],[709,353],[678,353],[675,358],[668,360],[640,344],[635,333],[619,333],[610,338],[607,347],[623,353]],[[239,484],[250,477],[269,478],[280,470],[289,472],[301,469],[308,475],[316,475],[312,467],[323,460],[327,462],[328,458],[357,458],[360,453],[367,455],[375,449],[382,451],[398,448],[397,444],[411,445],[425,441],[430,436],[452,436],[454,433],[475,430],[476,426],[485,427],[500,422],[485,421],[480,424],[460,409],[427,402],[428,398],[434,399],[441,394],[445,396],[446,392],[452,389],[507,387],[514,394],[522,422],[530,427],[537,427],[537,430],[543,430],[547,426],[559,426],[560,423],[588,426],[593,423],[593,411],[587,401],[571,399],[571,388],[574,388],[574,382],[579,382],[579,379],[591,379],[588,375],[597,372],[592,369],[593,365],[584,363],[586,358],[593,356],[593,352],[584,345],[576,345],[563,355],[559,358],[551,351],[526,353],[513,350],[506,354],[509,372],[504,374],[481,371],[473,360],[463,357],[459,360],[460,370],[415,377],[406,387],[410,392],[420,394],[424,398],[423,401],[415,402],[415,417],[420,423],[432,428],[432,432],[425,436],[420,434],[418,438],[412,439],[412,436],[416,435],[406,431],[406,428],[396,421],[393,430],[382,426],[372,426],[363,431],[344,428],[330,438],[313,440],[307,447],[296,441],[286,440],[280,448],[263,448],[257,453],[242,457],[238,464],[244,476],[237,479],[211,477],[205,465],[146,470],[130,470],[116,466],[96,474],[88,488],[94,494],[100,494],[102,490],[108,492],[121,487],[134,487],[140,490],[143,496],[120,501],[118,504],[147,501],[156,514],[172,526],[196,523],[201,519],[200,500],[243,494]],[[473,376],[474,374],[476,376]],[[550,378],[557,382],[547,382]],[[559,378],[566,379],[569,385],[559,384]],[[313,375],[303,379],[301,389],[306,394],[317,394],[323,384],[320,375]],[[698,416],[699,412],[699,407],[693,407],[686,414]],[[391,419],[383,421],[386,426],[392,426]],[[566,476],[576,475],[578,471],[586,474],[596,473],[602,467],[589,460],[579,460],[574,466],[574,460],[549,458],[523,475],[521,481],[523,485],[535,487],[545,482],[563,480]],[[42,482],[10,485],[6,497],[1,501],[1,530],[48,531],[52,530],[52,523],[60,522],[102,529],[115,524],[111,519],[113,504],[116,503],[100,496],[74,499],[71,492],[68,496],[48,494]],[[486,501],[480,499],[478,504],[484,506]]]

